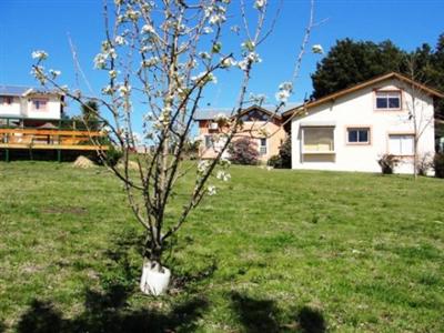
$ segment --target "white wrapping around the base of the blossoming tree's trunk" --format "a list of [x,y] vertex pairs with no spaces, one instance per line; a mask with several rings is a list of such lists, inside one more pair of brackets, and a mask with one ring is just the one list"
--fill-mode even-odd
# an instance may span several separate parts
[[163,294],[170,284],[171,272],[159,263],[147,261],[143,263],[140,290],[149,295],[159,296]]

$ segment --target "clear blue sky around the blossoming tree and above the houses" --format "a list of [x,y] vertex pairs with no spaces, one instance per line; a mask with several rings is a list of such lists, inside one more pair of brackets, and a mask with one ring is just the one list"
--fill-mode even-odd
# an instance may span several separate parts
[[[278,3],[278,0],[270,1],[272,7]],[[325,51],[337,39],[346,37],[374,42],[391,39],[402,49],[413,50],[423,42],[434,46],[444,32],[444,0],[317,0],[315,7],[316,20],[327,21],[314,30],[311,44],[320,43]],[[259,50],[263,62],[253,73],[252,92],[265,93],[274,102],[276,87],[291,75],[309,9],[307,0],[283,1],[274,33]],[[105,78],[104,73],[93,70],[92,59],[103,40],[102,28],[102,0],[0,0],[0,83],[36,85],[29,74],[31,52],[43,49],[50,54],[49,65],[62,71],[60,81],[75,87],[69,33],[83,70],[94,90],[100,91]],[[293,101],[310,94],[310,73],[321,59],[322,56],[312,53],[304,58]],[[233,104],[238,91],[230,78],[230,74],[219,78],[220,83],[206,93],[205,104]],[[73,105],[70,113],[75,113]]]

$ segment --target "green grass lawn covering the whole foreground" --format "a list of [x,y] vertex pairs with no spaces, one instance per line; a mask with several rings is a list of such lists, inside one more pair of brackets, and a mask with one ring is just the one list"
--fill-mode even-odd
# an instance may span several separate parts
[[[233,167],[170,294],[104,169],[0,163],[0,332],[443,332],[444,181]],[[176,208],[172,208],[172,213]]]

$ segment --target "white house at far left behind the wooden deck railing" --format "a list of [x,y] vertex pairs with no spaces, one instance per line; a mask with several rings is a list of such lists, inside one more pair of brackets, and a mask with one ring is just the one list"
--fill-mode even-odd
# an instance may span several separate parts
[[0,118],[59,120],[63,95],[30,87],[0,84]]

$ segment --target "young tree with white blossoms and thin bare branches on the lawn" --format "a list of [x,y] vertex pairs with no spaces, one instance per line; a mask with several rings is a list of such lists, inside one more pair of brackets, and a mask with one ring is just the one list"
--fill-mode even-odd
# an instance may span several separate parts
[[[108,84],[100,97],[87,97],[58,83],[59,71],[47,70],[48,54],[36,51],[32,72],[46,85],[59,89],[74,101],[88,108],[95,101],[108,115],[97,114],[105,124],[109,138],[123,152],[123,168],[108,168],[123,182],[130,206],[145,230],[144,263],[141,290],[147,294],[161,294],[169,284],[170,271],[162,265],[162,254],[169,240],[186,222],[190,212],[205,195],[216,193],[216,181],[230,180],[229,161],[224,151],[240,129],[241,111],[252,100],[248,97],[250,75],[261,59],[256,52],[274,27],[274,18],[265,28],[266,0],[238,3],[241,28],[230,27],[228,11],[230,0],[115,0],[105,9],[105,39],[94,58],[97,69],[105,72]],[[248,11],[255,11],[254,23]],[[271,28],[270,28],[271,27]],[[293,92],[302,54],[313,27],[311,19],[290,82],[279,85],[276,111]],[[232,33],[240,38],[239,54],[225,50],[222,36]],[[319,52],[319,47],[313,49]],[[183,165],[184,147],[194,122],[194,114],[210,84],[216,82],[220,71],[240,71],[241,82],[232,117],[218,115],[215,121],[228,130],[218,157],[202,160],[198,165]],[[133,101],[141,101],[144,114],[133,110]],[[97,112],[91,110],[91,112]],[[133,130],[134,122],[143,128],[141,138]],[[88,124],[87,124],[88,125]],[[94,138],[91,138],[94,140]],[[99,144],[99,143],[98,143]],[[143,154],[131,154],[144,145]],[[107,155],[98,151],[107,163]],[[130,170],[135,161],[137,170]],[[188,199],[175,216],[167,216],[178,181],[194,174]]]

